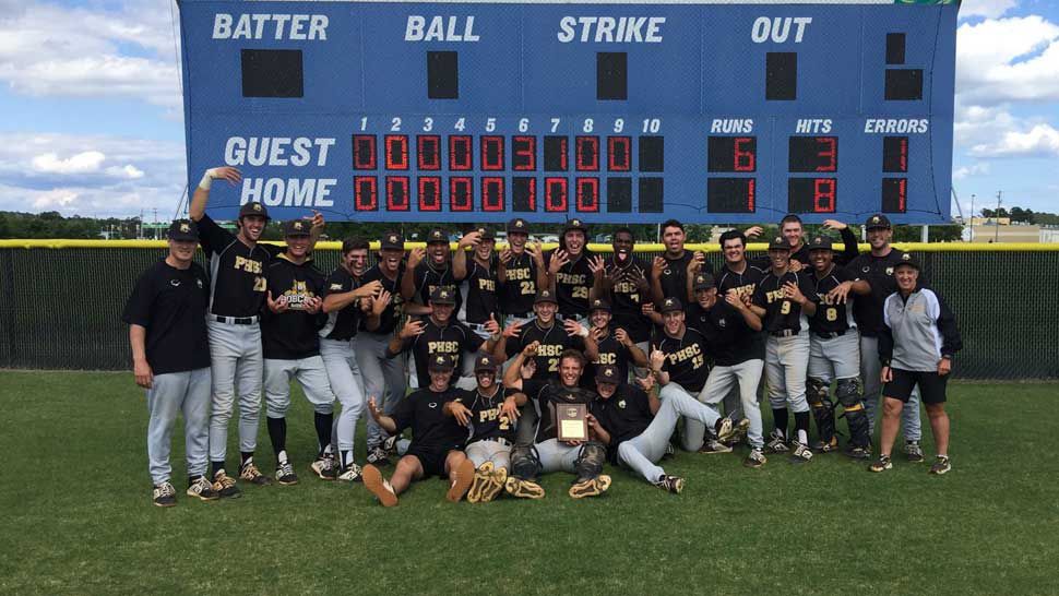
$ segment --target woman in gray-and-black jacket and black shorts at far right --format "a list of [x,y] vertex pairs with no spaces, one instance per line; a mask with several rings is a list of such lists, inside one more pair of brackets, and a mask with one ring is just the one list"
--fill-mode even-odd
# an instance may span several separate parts
[[952,356],[963,347],[956,318],[932,289],[919,285],[919,264],[908,254],[894,267],[897,291],[883,305],[885,327],[879,336],[881,380],[885,383],[879,461],[871,472],[893,467],[890,453],[897,438],[901,410],[915,386],[927,406],[938,458],[930,474],[945,474],[949,463],[949,415],[945,414],[945,383]]

